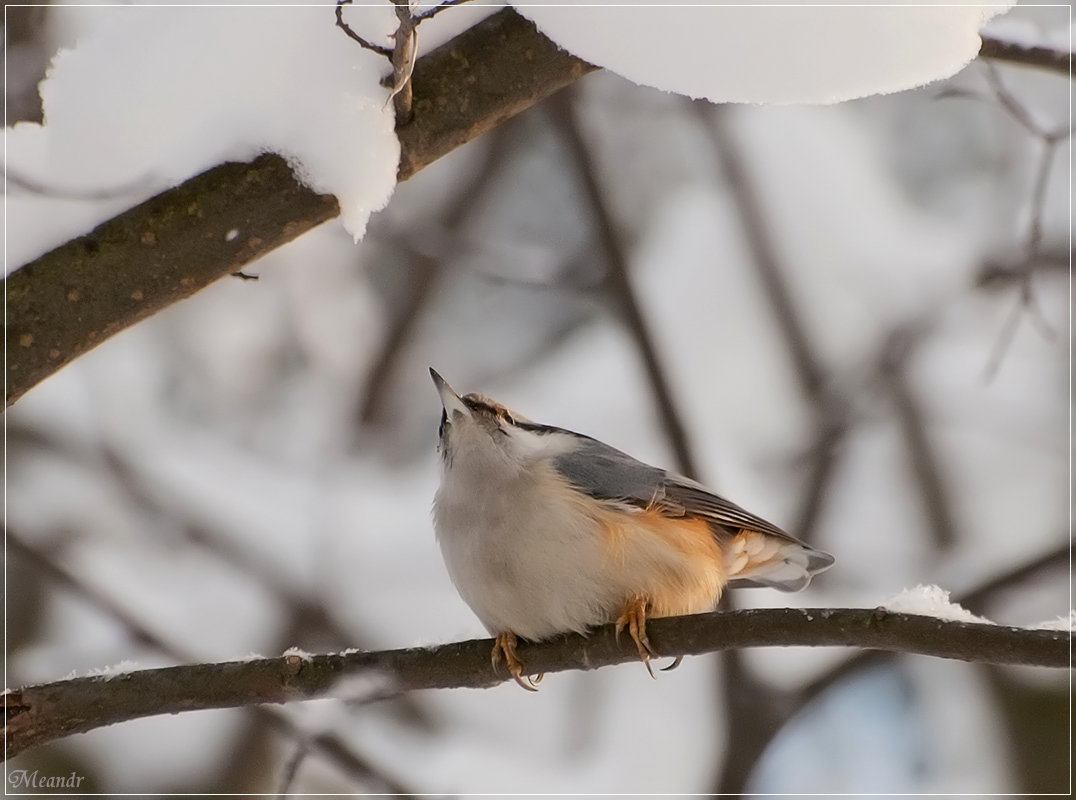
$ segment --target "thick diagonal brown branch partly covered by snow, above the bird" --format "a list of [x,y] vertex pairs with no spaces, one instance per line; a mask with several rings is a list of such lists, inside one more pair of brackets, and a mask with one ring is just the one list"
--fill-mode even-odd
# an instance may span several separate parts
[[[328,24],[328,23],[327,23]],[[423,56],[399,180],[594,67],[506,9]],[[6,280],[5,405],[129,325],[340,213],[273,154],[222,164],[23,266]]]

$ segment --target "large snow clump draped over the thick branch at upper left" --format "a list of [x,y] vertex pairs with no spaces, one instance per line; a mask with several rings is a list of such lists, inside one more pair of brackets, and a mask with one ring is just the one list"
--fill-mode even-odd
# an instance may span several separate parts
[[[18,266],[150,197],[227,160],[274,152],[300,180],[336,195],[357,240],[396,184],[399,142],[380,79],[385,58],[335,27],[325,6],[58,8],[82,25],[41,83],[43,125],[5,130],[6,166],[48,195],[93,199],[77,228],[9,228]],[[356,8],[369,38],[394,29],[392,6]],[[105,22],[107,24],[100,24]],[[194,55],[197,54],[197,55]],[[9,197],[17,211],[19,198]],[[85,203],[83,203],[85,205]],[[11,211],[11,206],[9,211]],[[51,217],[49,217],[51,219]]]

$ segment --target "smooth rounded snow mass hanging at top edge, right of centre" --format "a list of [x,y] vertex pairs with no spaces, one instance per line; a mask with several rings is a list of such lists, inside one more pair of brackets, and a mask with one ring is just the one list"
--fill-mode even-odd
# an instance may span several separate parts
[[948,78],[978,54],[982,25],[1011,4],[514,3],[557,44],[629,81],[756,103],[839,102]]

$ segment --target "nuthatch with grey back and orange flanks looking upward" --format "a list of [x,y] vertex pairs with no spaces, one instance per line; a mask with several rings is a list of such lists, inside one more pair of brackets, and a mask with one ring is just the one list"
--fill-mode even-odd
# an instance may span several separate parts
[[[452,583],[520,686],[518,636],[617,623],[650,670],[650,617],[712,610],[725,586],[796,591],[833,564],[693,480],[480,394],[441,395],[434,527]],[[651,674],[653,674],[651,672]],[[529,684],[529,685],[528,685]]]

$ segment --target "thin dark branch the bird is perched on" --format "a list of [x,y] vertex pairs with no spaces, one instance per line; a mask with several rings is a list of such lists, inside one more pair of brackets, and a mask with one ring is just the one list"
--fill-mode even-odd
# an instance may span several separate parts
[[[884,608],[765,608],[651,620],[666,656],[735,647],[838,646],[918,652],[995,664],[1070,665],[1070,634],[949,622]],[[485,688],[507,679],[490,663],[491,640],[380,652],[288,655],[251,661],[80,677],[4,693],[5,758],[71,733],[156,714],[231,708],[315,698],[394,697],[415,689]],[[612,626],[524,643],[534,673],[594,670],[638,659]]]

